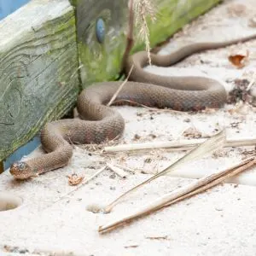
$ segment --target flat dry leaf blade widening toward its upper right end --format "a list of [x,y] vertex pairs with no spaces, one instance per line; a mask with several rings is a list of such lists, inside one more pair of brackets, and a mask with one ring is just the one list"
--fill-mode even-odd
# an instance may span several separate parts
[[149,183],[153,181],[155,178],[160,177],[162,175],[165,175],[168,172],[171,172],[174,169],[177,169],[177,167],[182,166],[183,164],[187,163],[188,161],[195,160],[199,157],[201,157],[203,154],[207,154],[212,152],[213,150],[216,150],[223,146],[225,142],[225,131],[220,131],[215,136],[209,138],[206,142],[199,145],[197,148],[192,149],[189,154],[185,154],[182,158],[172,163],[171,166],[168,166],[163,171],[155,174],[153,177],[148,178],[143,183],[138,184],[132,189],[129,189],[126,191],[123,195],[120,195],[116,200],[111,202],[105,209],[103,209],[104,212],[111,212],[113,207],[121,201],[126,195],[129,195],[132,191],[135,191],[142,187],[144,184]]

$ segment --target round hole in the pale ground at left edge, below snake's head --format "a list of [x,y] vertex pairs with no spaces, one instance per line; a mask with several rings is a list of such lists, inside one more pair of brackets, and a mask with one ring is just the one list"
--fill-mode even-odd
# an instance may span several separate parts
[[19,196],[0,192],[0,212],[13,210],[20,207],[22,199]]

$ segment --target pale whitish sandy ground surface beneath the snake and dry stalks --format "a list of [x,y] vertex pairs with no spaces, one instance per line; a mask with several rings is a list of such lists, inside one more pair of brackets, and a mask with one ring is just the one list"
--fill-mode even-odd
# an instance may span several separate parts
[[[256,33],[254,0],[224,1],[177,33],[160,54],[192,42],[222,41],[253,33]],[[256,39],[192,55],[175,67],[147,67],[147,70],[162,75],[212,77],[222,81],[230,91],[235,84],[241,81],[250,84],[256,78],[255,48]],[[244,67],[237,68],[230,63],[230,54],[247,51]],[[125,134],[118,143],[209,137],[224,128],[229,139],[256,137],[256,108],[243,102],[203,113],[113,108],[125,117]],[[75,147],[72,162],[61,170],[26,182],[17,182],[5,172],[1,175],[0,191],[19,195],[23,203],[15,210],[0,213],[1,255],[4,252],[8,255],[256,255],[255,168],[233,183],[224,183],[108,234],[97,233],[97,228],[109,220],[191,183],[190,178],[234,165],[253,152],[253,147],[224,148],[204,156],[172,172],[171,177],[160,177],[148,184],[115,207],[111,214],[96,214],[87,209],[91,204],[106,205],[150,177],[145,173],[160,172],[185,153],[154,149],[136,154],[103,154],[101,148]],[[67,175],[75,172],[90,177],[106,162],[136,168],[137,173],[127,172],[127,177],[122,179],[106,171],[70,193],[75,187],[68,185]]]

